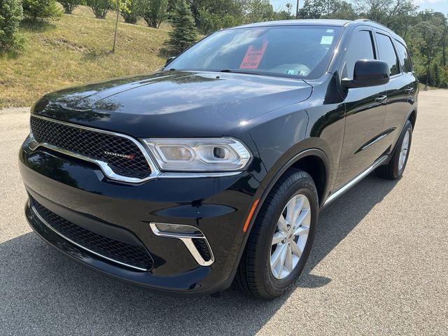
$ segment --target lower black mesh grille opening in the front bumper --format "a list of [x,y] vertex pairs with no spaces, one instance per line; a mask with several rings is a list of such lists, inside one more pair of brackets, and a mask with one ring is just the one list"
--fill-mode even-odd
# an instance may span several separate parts
[[38,214],[48,225],[76,244],[127,265],[147,270],[153,268],[153,258],[148,254],[144,246],[134,246],[123,241],[98,235],[57,216],[57,214],[36,202],[36,200],[33,200],[33,204]]

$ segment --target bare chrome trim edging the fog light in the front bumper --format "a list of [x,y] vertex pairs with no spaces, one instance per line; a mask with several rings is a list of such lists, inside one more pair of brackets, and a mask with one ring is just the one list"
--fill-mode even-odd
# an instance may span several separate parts
[[[163,232],[157,228],[156,226],[157,224],[170,225],[169,223],[153,223],[153,222],[149,223],[149,226],[151,227],[151,230],[153,230],[155,235],[166,238],[180,239],[183,242],[183,244],[185,244],[186,248],[188,248],[188,251],[193,256],[193,258],[195,258],[196,262],[201,266],[209,266],[214,263],[215,256],[213,254],[213,251],[211,250],[209,241],[207,240],[207,237],[205,237],[204,233],[200,229],[191,225],[176,224],[185,226],[186,228],[191,228],[192,230],[199,232],[198,233]],[[204,260],[204,258],[202,258],[202,255],[197,250],[195,244],[193,244],[193,239],[204,239],[205,244],[207,244],[207,247],[209,248],[210,251],[210,260]]]

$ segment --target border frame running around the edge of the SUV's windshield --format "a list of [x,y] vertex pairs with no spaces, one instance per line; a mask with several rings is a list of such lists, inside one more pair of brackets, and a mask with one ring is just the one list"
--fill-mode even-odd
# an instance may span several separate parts
[[[269,23],[269,22],[266,22]],[[283,28],[283,27],[322,27],[322,29],[337,29],[339,32],[337,33],[337,38],[335,39],[335,43],[332,45],[331,50],[328,50],[328,53],[323,57],[321,62],[319,62],[314,69],[311,70],[308,76],[299,76],[299,75],[288,75],[286,73],[279,73],[279,72],[270,72],[270,71],[258,71],[257,69],[248,69],[248,71],[245,71],[245,69],[175,69],[172,67],[173,63],[176,62],[176,59],[181,57],[181,55],[185,54],[190,50],[191,48],[195,47],[195,45],[202,43],[205,39],[209,38],[210,36],[213,36],[215,34],[221,34],[224,31],[232,31],[232,30],[241,30],[241,29],[258,29],[258,28]],[[165,66],[162,66],[162,71],[186,71],[186,72],[209,72],[209,73],[239,73],[239,74],[246,74],[246,75],[253,75],[253,76],[269,76],[269,77],[277,77],[277,78],[289,78],[289,79],[297,79],[297,80],[318,80],[319,78],[322,78],[325,73],[328,73],[328,68],[332,64],[333,59],[335,58],[335,54],[338,50],[339,43],[342,39],[342,36],[344,35],[344,26],[339,25],[256,25],[256,26],[239,26],[239,27],[232,27],[227,29],[221,29],[218,31],[214,31],[213,33],[204,36],[199,41],[197,41],[195,44],[190,45],[186,50],[183,50],[179,55],[177,55],[172,62],[169,62],[168,64],[165,64]],[[321,68],[321,69],[319,69]],[[229,71],[230,70],[230,71]],[[319,70],[319,71],[316,71]],[[311,76],[311,74],[318,72],[318,76]]]

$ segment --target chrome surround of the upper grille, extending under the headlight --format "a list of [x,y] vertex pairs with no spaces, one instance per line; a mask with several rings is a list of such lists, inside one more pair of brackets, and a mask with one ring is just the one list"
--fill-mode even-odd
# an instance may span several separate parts
[[[88,156],[85,155],[80,155],[78,153],[73,153],[71,151],[67,151],[64,148],[59,148],[57,146],[53,146],[51,144],[47,144],[46,142],[38,142],[36,141],[36,139],[34,139],[33,134],[32,134],[32,130],[31,133],[29,134],[29,148],[31,149],[31,151],[35,151],[38,147],[44,147],[44,148],[48,148],[51,149],[52,151],[56,151],[65,155],[69,155],[73,158],[77,158],[80,160],[85,160],[88,162],[92,162],[96,165],[99,166],[99,168],[101,168],[102,172],[104,173],[104,175],[106,177],[108,177],[111,180],[114,181],[120,181],[120,182],[125,182],[125,183],[142,183],[151,179],[157,179],[157,178],[169,178],[169,179],[191,179],[191,178],[203,178],[203,177],[220,177],[220,176],[233,176],[233,175],[237,175],[237,174],[241,174],[241,172],[200,172],[200,173],[195,173],[195,172],[188,172],[188,173],[184,173],[184,172],[160,172],[160,169],[158,169],[157,165],[155,165],[153,159],[151,158],[151,156],[149,155],[148,150],[146,149],[146,147],[140,143],[140,141],[138,141],[137,139],[134,139],[133,137],[130,137],[128,135],[125,134],[120,134],[120,133],[116,133],[116,132],[110,132],[110,131],[105,131],[105,130],[99,130],[97,128],[92,128],[92,127],[86,127],[86,126],[81,126],[81,125],[76,125],[76,124],[72,124],[72,123],[66,123],[64,121],[60,121],[60,120],[55,120],[52,118],[47,118],[47,117],[43,117],[43,116],[37,116],[36,114],[32,115],[35,118],[41,118],[44,120],[48,120],[51,121],[52,123],[59,123],[62,125],[67,125],[69,127],[77,127],[80,128],[82,130],[89,130],[92,132],[98,132],[98,133],[104,133],[104,134],[111,134],[114,135],[116,137],[122,137],[125,139],[128,139],[130,141],[132,141],[141,151],[141,153],[144,155],[146,162],[148,162],[148,167],[151,168],[151,174],[147,177],[145,177],[144,179],[138,179],[135,177],[128,177],[128,176],[123,176],[120,174],[116,174],[115,172],[113,172],[113,170],[111,169],[111,167],[109,166],[109,164],[107,162],[104,162],[102,160],[97,160],[94,158],[90,158]],[[250,153],[250,152],[249,152]]]

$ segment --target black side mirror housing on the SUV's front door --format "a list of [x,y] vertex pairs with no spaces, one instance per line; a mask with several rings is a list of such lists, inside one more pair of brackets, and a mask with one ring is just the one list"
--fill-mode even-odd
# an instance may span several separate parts
[[377,59],[360,59],[355,63],[353,79],[343,78],[344,87],[368,87],[384,85],[389,81],[389,66]]

